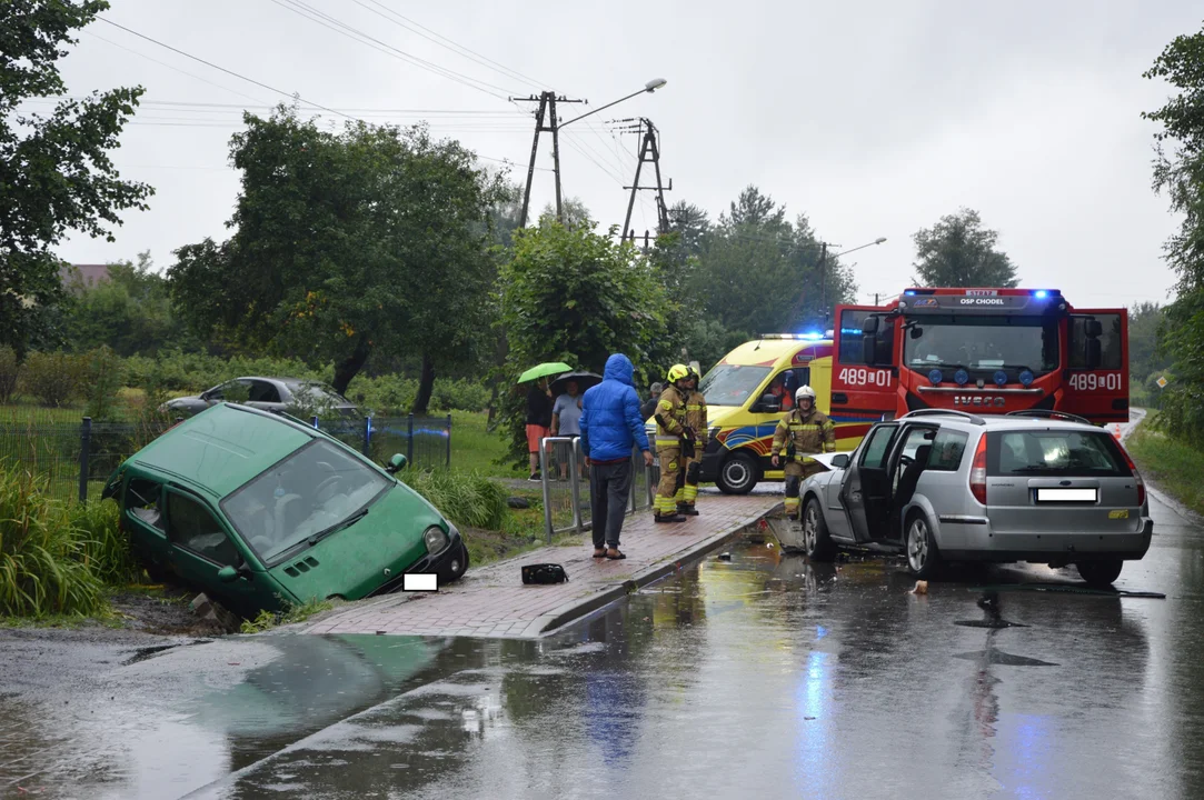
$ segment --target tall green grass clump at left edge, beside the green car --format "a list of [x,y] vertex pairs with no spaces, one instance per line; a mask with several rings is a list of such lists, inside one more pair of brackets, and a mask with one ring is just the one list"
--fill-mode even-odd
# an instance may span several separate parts
[[0,615],[101,611],[102,587],[84,540],[65,523],[45,479],[0,467]]

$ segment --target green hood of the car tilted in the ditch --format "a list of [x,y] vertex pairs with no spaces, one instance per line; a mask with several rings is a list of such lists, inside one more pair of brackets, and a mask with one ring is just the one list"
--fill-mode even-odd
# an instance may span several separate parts
[[[443,516],[403,484],[389,488],[349,528],[302,550],[270,573],[297,600],[367,597],[426,555],[423,532]],[[388,574],[385,573],[388,570]]]

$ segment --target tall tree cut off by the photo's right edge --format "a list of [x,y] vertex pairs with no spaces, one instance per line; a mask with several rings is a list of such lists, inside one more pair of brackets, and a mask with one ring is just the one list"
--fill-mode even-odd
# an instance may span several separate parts
[[1153,188],[1182,217],[1163,248],[1179,283],[1163,327],[1175,380],[1162,397],[1162,420],[1173,435],[1204,446],[1204,30],[1175,37],[1144,77],[1178,91],[1143,114],[1162,125]]

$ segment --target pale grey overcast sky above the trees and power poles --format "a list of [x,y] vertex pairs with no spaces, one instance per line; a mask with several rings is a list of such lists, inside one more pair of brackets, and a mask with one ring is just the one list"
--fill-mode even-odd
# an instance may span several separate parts
[[[554,88],[596,107],[663,77],[662,90],[562,134],[565,192],[603,230],[622,221],[638,143],[607,120],[644,115],[661,131],[671,203],[715,218],[754,183],[844,249],[887,237],[846,259],[863,297],[899,291],[911,235],[961,206],[999,232],[1023,285],[1061,289],[1079,307],[1164,301],[1174,280],[1159,256],[1178,220],[1150,188],[1156,126],[1139,114],[1168,94],[1141,72],[1173,37],[1200,29],[1199,4],[1187,0],[300,0],[386,47],[303,18],[288,7],[296,0],[112,5],[116,23],[307,101],[377,122],[429,119],[482,156],[512,160],[515,180],[531,119],[507,95]],[[116,161],[158,194],[149,212],[125,215],[116,243],[76,237],[63,257],[150,250],[165,268],[176,248],[225,238],[240,107],[266,112],[282,97],[104,22],[81,35],[64,73],[72,93],[146,87]],[[538,166],[551,166],[548,137]],[[533,208],[551,194],[551,173],[537,172]],[[641,194],[633,227],[655,229],[651,192]]]

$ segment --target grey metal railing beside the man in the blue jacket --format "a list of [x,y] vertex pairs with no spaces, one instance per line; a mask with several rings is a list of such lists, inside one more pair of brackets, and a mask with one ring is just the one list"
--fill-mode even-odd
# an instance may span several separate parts
[[[543,521],[548,544],[551,544],[556,534],[569,531],[584,534],[592,527],[590,481],[584,464],[579,437],[544,437],[541,440],[539,482],[543,488]],[[632,450],[627,514],[653,506],[659,467],[647,467],[643,454]]]

